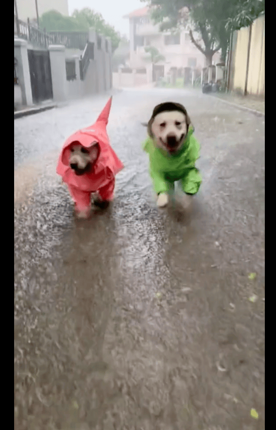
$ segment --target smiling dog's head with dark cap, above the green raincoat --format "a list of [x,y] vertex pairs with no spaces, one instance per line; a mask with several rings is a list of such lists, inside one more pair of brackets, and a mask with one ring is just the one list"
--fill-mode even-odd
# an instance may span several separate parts
[[158,148],[173,154],[181,149],[190,125],[184,106],[162,103],[155,107],[148,123],[148,133]]

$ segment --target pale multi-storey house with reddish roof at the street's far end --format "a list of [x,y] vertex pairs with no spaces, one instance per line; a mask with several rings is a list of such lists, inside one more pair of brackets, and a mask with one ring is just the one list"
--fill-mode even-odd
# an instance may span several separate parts
[[[175,34],[160,32],[159,24],[155,25],[152,21],[148,7],[137,9],[123,18],[129,19],[132,69],[144,67],[148,70],[149,67],[153,67],[152,76],[155,81],[175,68],[177,75],[182,76],[185,67],[198,70],[206,67],[206,57],[191,42],[188,29]],[[194,36],[197,35],[194,34]],[[149,55],[145,53],[145,46],[157,48],[165,57],[165,61],[159,61],[153,66],[149,64]]]

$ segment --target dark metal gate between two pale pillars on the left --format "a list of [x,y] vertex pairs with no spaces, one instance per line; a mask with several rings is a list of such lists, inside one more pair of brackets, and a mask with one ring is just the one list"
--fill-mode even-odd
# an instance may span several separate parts
[[34,103],[52,99],[52,76],[49,51],[28,50]]

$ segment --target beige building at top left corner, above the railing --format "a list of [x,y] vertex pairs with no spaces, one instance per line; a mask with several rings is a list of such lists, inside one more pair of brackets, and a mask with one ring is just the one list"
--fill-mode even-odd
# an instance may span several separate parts
[[68,11],[68,0],[15,0],[17,4],[17,14],[18,19],[21,21],[27,22],[27,19],[30,19],[30,22],[36,20],[36,6],[37,3],[37,11],[38,16],[41,17],[45,12],[49,12],[50,10],[56,10],[60,12],[64,16],[69,16]]

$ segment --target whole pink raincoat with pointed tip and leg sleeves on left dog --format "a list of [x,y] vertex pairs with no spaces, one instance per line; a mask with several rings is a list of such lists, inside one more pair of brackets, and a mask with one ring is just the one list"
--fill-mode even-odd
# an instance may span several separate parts
[[[115,175],[124,167],[109,144],[106,131],[112,97],[106,103],[97,121],[90,127],[76,131],[65,142],[59,156],[56,172],[69,188],[78,214],[88,216],[91,206],[91,193],[97,193],[99,201],[113,200]],[[73,144],[81,144],[86,150],[98,143],[98,157],[89,171],[77,175],[70,167],[70,151]]]

